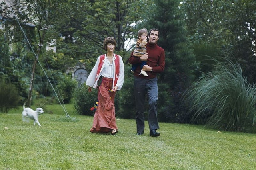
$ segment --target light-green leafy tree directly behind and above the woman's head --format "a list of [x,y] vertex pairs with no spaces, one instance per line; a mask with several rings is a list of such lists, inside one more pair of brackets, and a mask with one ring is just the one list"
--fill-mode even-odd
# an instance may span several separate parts
[[116,39],[116,51],[128,51],[130,46],[125,42],[136,32],[132,25],[142,20],[147,2],[80,0],[70,3],[70,8],[63,9],[68,18],[59,24],[60,33],[78,60],[95,59],[102,53],[103,40],[108,36]]

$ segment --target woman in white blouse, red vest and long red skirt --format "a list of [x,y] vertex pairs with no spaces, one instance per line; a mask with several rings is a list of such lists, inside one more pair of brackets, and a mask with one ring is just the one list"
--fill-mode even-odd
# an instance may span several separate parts
[[118,129],[114,98],[116,91],[124,84],[124,63],[120,55],[114,54],[116,47],[114,37],[105,38],[103,47],[106,54],[98,57],[86,80],[89,92],[92,88],[98,88],[98,106],[90,132],[111,132],[115,135]]

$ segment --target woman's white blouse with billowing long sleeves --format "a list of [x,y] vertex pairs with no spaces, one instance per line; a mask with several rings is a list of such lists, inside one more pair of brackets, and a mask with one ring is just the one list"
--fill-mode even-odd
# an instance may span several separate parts
[[[108,62],[108,58],[105,54],[105,58],[103,60],[103,68],[102,72],[100,75],[106,78],[114,78],[114,60],[116,59],[116,55],[114,54],[112,64]],[[90,87],[95,87],[94,85],[96,84],[96,74],[98,70],[98,66],[100,63],[100,56],[98,57],[95,66],[92,68],[92,71],[90,72],[87,80],[86,80],[86,85]],[[111,66],[110,66],[111,65]],[[116,86],[118,86],[117,90],[120,90],[124,84],[124,62],[121,56],[119,56],[119,77],[116,83]]]

